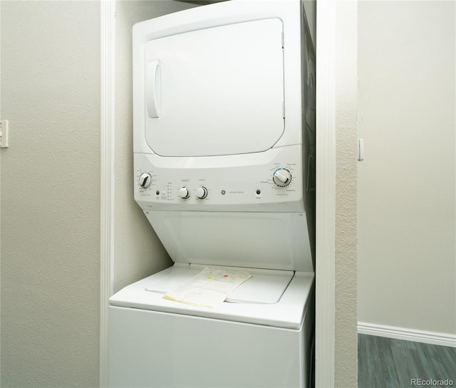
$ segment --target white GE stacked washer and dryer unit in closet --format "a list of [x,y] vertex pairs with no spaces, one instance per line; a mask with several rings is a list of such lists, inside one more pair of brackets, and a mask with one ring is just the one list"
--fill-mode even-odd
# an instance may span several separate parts
[[[133,27],[135,200],[175,264],[110,298],[110,387],[309,387],[315,51],[299,0]],[[252,277],[217,308],[163,296]]]

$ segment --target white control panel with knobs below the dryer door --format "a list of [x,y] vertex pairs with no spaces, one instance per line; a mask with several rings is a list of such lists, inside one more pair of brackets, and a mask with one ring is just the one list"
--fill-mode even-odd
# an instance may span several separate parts
[[[163,209],[165,205],[180,205],[190,210],[220,205],[298,203],[299,210],[293,210],[301,211],[304,197],[301,163],[290,150],[282,151],[274,150],[275,155],[269,158],[261,155],[264,160],[253,158],[251,163],[242,163],[240,159],[247,158],[242,155],[239,163],[232,166],[222,165],[216,157],[212,161],[173,158],[172,168],[162,165],[163,159],[170,158],[135,154],[135,200],[144,210]],[[296,153],[301,158],[299,149]]]

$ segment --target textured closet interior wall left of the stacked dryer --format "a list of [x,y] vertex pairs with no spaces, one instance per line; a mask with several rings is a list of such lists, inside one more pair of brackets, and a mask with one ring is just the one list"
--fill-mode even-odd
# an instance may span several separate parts
[[133,198],[133,24],[193,6],[169,0],[116,2],[114,292],[172,265]]

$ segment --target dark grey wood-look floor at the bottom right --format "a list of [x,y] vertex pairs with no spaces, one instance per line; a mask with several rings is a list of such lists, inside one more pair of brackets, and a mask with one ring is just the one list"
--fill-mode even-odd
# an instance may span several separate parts
[[358,335],[358,388],[406,387],[456,388],[456,348]]

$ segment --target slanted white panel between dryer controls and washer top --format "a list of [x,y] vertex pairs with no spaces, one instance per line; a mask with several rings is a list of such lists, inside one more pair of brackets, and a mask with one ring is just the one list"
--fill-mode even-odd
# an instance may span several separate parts
[[313,272],[305,213],[145,211],[175,262]]

